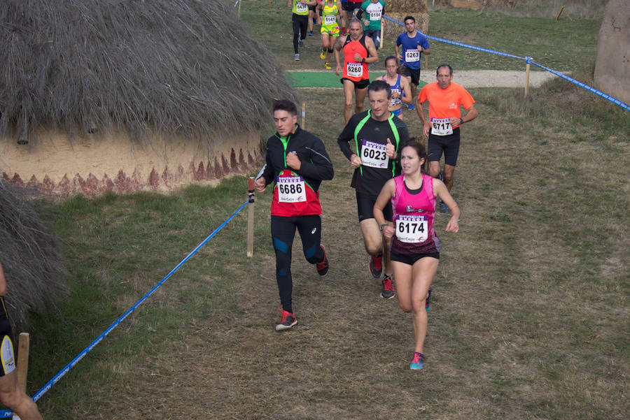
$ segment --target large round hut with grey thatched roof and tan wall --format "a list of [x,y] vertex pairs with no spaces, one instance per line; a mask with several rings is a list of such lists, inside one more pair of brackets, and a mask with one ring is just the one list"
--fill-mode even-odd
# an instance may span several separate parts
[[229,0],[8,0],[0,173],[45,193],[169,189],[242,173],[295,99]]

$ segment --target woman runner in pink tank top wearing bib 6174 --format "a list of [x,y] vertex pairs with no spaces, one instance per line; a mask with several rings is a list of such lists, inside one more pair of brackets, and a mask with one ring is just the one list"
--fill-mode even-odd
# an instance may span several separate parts
[[[409,368],[424,365],[423,345],[428,322],[428,298],[440,262],[440,241],[433,229],[435,198],[451,210],[447,232],[459,231],[461,214],[444,182],[426,175],[426,149],[417,138],[402,148],[402,175],[388,180],[374,203],[374,219],[386,238],[391,238],[391,263],[398,291],[398,304],[413,312],[415,346]],[[387,224],[383,209],[391,200],[394,226]]]

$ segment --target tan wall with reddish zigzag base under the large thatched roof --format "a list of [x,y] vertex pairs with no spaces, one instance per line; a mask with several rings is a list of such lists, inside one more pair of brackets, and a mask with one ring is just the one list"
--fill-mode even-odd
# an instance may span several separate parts
[[239,133],[212,141],[154,138],[139,145],[124,133],[95,133],[70,140],[42,129],[24,145],[0,138],[0,174],[46,196],[106,191],[169,191],[191,182],[216,182],[260,166],[260,133]]

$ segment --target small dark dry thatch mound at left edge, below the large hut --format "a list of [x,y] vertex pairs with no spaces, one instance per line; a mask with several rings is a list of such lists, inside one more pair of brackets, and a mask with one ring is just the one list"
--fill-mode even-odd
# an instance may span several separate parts
[[6,303],[15,331],[27,312],[43,312],[66,296],[57,236],[8,182],[0,180],[0,262],[7,282]]

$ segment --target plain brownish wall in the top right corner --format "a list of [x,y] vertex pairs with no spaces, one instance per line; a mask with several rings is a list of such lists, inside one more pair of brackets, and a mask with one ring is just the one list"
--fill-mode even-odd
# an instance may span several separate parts
[[610,0],[597,41],[595,85],[602,92],[630,103],[630,6]]

